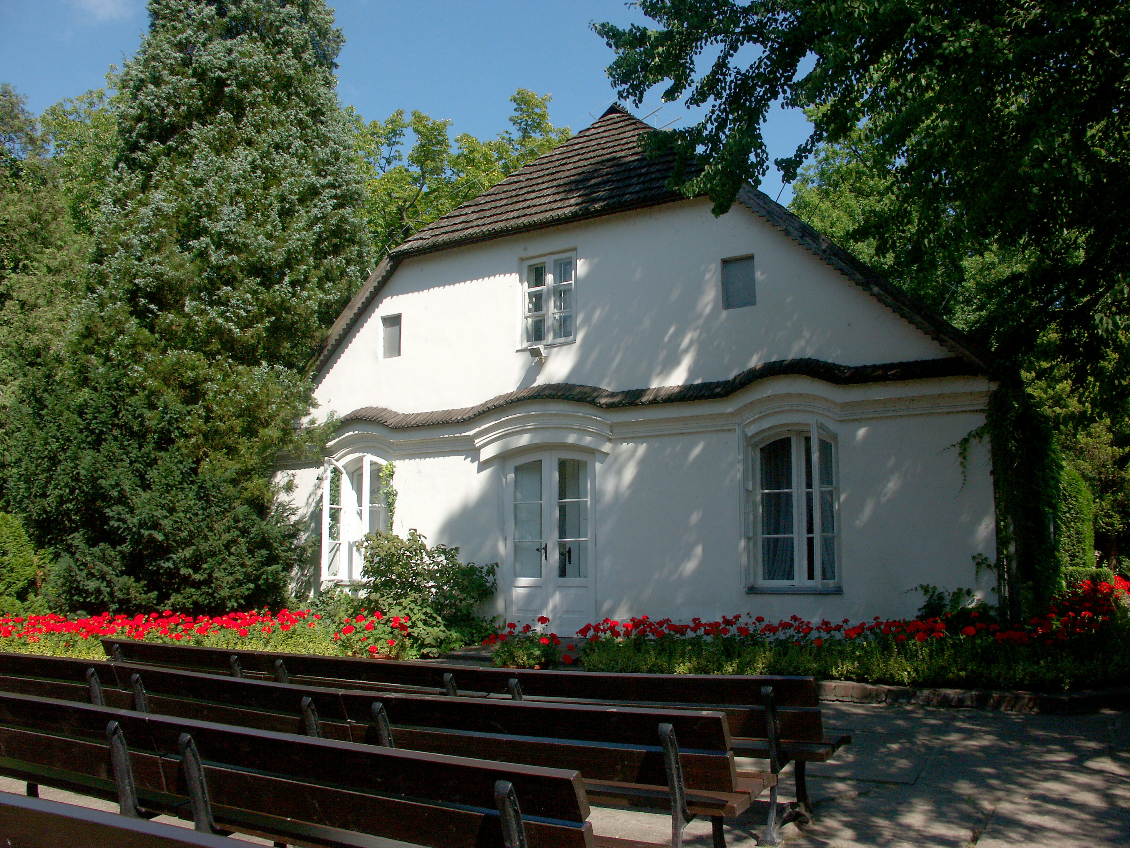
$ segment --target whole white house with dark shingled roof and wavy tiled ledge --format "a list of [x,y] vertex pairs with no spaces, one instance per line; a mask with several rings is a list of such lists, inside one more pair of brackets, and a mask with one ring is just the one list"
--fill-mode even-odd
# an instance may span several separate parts
[[499,563],[495,612],[913,613],[996,554],[993,383],[953,327],[765,194],[666,188],[623,109],[393,251],[318,364],[294,468],[321,582],[383,527]]

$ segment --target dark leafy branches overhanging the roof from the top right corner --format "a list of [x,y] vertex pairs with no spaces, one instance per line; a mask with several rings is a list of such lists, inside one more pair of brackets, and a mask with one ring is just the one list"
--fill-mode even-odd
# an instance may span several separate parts
[[889,224],[873,230],[875,256],[940,252],[942,277],[965,257],[990,261],[970,329],[1006,363],[1050,328],[1084,367],[1104,357],[1130,272],[1127,0],[638,6],[659,28],[596,29],[621,96],[662,84],[666,99],[707,106],[649,140],[702,166],[677,174],[685,191],[725,211],[766,172],[770,107],[808,109],[811,135],[776,164],[792,180],[818,145],[862,136]]

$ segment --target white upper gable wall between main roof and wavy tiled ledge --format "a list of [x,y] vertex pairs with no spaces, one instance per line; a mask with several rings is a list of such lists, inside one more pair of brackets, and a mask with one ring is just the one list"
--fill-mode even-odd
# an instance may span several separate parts
[[[523,258],[575,250],[576,341],[519,349]],[[721,259],[753,253],[757,305],[722,309]],[[401,355],[381,358],[381,317],[402,315]],[[322,413],[411,413],[518,387],[637,389],[724,380],[774,360],[845,365],[949,356],[938,343],[745,207],[705,200],[409,259],[319,378]]]

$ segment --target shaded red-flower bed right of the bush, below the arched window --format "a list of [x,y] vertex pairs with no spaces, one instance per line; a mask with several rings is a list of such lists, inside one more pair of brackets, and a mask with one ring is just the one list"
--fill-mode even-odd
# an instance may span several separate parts
[[[980,606],[924,620],[767,622],[733,615],[689,624],[606,618],[558,638],[507,624],[487,643],[496,665],[581,664],[596,672],[803,674],[902,686],[1063,692],[1130,683],[1130,583],[1083,582],[1044,615],[997,621]],[[546,622],[541,622],[544,625]],[[559,647],[558,647],[559,646]]]

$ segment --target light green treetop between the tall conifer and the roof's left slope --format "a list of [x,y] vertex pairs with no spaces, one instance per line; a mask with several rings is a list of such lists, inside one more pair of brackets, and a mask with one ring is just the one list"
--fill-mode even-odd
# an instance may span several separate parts
[[[567,127],[549,121],[550,95],[519,88],[510,99],[513,131],[488,141],[463,132],[454,149],[451,121],[418,111],[409,119],[403,110],[383,122],[353,115],[368,191],[364,216],[376,257],[570,138]],[[406,155],[409,130],[415,141]]]

